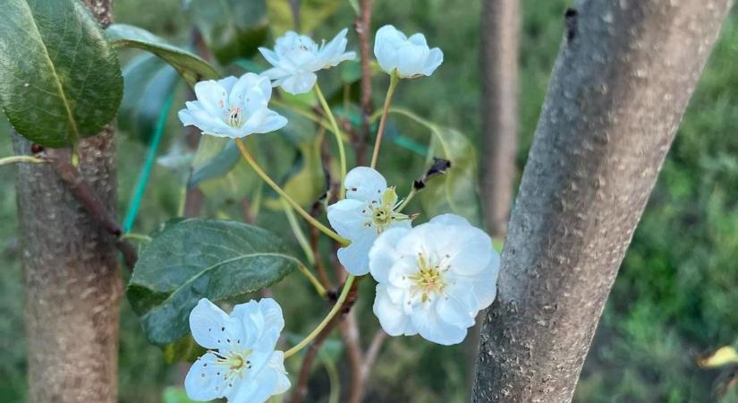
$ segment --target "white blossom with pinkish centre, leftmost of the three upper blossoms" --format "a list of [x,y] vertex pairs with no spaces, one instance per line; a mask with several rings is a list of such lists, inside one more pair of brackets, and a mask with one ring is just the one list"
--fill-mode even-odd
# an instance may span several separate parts
[[272,86],[266,76],[245,73],[238,79],[199,81],[195,95],[197,100],[187,102],[179,118],[203,134],[235,139],[274,132],[287,124],[284,116],[267,108]]

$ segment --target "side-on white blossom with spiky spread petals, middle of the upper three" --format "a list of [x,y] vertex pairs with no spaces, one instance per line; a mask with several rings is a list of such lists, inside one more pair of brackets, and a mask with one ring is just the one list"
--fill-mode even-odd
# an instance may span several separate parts
[[338,32],[330,42],[318,47],[310,37],[299,35],[294,31],[285,33],[276,39],[274,50],[259,47],[259,52],[274,67],[264,72],[272,85],[282,87],[291,94],[304,94],[312,90],[318,76],[318,70],[334,67],[346,60],[356,58],[355,52],[346,52],[346,32]]

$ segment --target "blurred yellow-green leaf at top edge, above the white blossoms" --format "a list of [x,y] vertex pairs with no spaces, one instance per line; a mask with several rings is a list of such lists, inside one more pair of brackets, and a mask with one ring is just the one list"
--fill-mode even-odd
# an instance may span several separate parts
[[[300,3],[300,31],[310,32],[316,29],[343,3],[344,0],[302,0]],[[267,0],[267,15],[274,36],[278,37],[288,30],[295,29],[290,2]]]

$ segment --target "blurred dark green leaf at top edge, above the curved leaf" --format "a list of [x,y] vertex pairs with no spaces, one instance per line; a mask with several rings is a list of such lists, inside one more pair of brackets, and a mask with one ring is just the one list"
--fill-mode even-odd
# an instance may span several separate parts
[[187,13],[221,64],[253,56],[267,39],[265,0],[191,0]]

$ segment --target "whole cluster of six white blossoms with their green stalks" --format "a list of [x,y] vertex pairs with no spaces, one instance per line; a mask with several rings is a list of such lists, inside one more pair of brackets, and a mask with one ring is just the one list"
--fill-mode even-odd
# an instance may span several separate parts
[[[346,33],[342,30],[318,46],[304,35],[287,32],[276,40],[274,50],[259,48],[273,65],[267,72],[198,82],[194,88],[197,100],[187,102],[179,112],[182,124],[195,125],[203,134],[234,139],[281,129],[287,119],[268,108],[272,87],[292,94],[312,90],[319,70],[356,57],[346,52]],[[431,75],[443,62],[441,50],[429,48],[422,34],[408,38],[391,25],[377,30],[374,54],[381,69],[392,77],[383,119],[399,79]],[[322,99],[317,88],[316,94]],[[335,120],[329,110],[326,113],[343,147]],[[380,124],[375,154],[383,127]],[[250,160],[247,154],[244,157]],[[374,169],[375,162],[373,159],[372,167],[355,167],[343,178],[345,198],[327,208],[335,232],[314,219],[311,223],[344,244],[338,250],[338,261],[352,276],[370,273],[377,281],[373,311],[387,334],[418,334],[442,345],[460,343],[477,313],[495,299],[499,254],[486,233],[453,214],[412,227],[416,215],[403,213],[411,195],[401,201],[396,189]],[[343,167],[345,172],[345,164]],[[281,190],[273,181],[267,183],[276,186],[278,193]],[[303,217],[311,219],[307,213]],[[344,289],[350,288],[352,276]],[[332,312],[340,308],[340,298]],[[290,387],[284,371],[285,353],[276,350],[284,319],[274,300],[238,304],[227,314],[202,299],[191,312],[190,326],[195,341],[208,348],[187,374],[185,388],[191,399],[263,403]],[[286,356],[307,341],[288,350]]]

